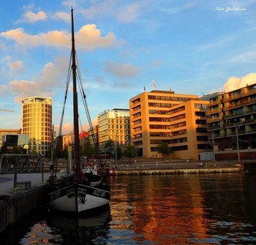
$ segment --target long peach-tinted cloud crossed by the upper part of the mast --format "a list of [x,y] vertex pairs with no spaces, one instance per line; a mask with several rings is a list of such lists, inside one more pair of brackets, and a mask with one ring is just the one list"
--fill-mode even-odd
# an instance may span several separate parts
[[[19,45],[25,45],[28,48],[39,45],[54,47],[70,47],[70,34],[67,31],[48,31],[37,35],[29,35],[23,29],[12,29],[1,32],[0,37],[12,39]],[[115,42],[115,35],[109,32],[105,37],[94,24],[83,26],[76,34],[76,46],[80,49],[93,50],[94,48],[107,48]]]

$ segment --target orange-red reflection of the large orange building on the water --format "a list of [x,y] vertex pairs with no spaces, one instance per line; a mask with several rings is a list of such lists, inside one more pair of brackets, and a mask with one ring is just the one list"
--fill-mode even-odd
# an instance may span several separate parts
[[[136,192],[132,203],[132,225],[135,234],[156,244],[187,243],[193,234],[197,239],[206,238],[206,219],[203,216],[203,197],[200,184],[156,188],[148,178]],[[180,188],[187,191],[180,192]],[[143,200],[143,201],[142,201]],[[140,236],[133,238],[138,242]]]

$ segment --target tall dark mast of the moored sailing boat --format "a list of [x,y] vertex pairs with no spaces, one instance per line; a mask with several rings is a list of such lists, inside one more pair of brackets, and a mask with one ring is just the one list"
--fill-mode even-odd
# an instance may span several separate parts
[[72,78],[73,78],[73,115],[74,115],[74,136],[75,136],[75,165],[80,167],[80,143],[79,143],[79,124],[78,124],[78,91],[76,82],[75,64],[75,34],[74,34],[74,18],[73,9],[71,9],[72,20]]

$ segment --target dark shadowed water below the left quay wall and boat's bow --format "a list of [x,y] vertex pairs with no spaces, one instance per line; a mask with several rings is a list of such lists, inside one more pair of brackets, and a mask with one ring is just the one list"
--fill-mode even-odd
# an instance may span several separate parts
[[110,208],[101,211],[98,215],[79,218],[64,216],[45,208],[37,209],[1,233],[0,244],[68,245],[91,244],[91,241],[104,244],[108,239],[110,220]]

